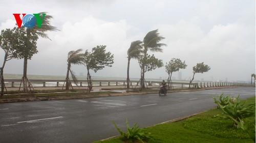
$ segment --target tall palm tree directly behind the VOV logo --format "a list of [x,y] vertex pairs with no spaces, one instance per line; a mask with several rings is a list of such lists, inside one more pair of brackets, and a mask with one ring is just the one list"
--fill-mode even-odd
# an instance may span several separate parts
[[[40,12],[40,14],[42,14],[42,13],[46,13],[46,12]],[[42,18],[42,15],[40,15],[40,17]],[[40,28],[36,28],[36,27],[38,27],[37,24],[34,26],[33,31],[36,33],[36,35],[38,35],[38,36],[40,36],[42,38],[50,39],[48,37],[48,35],[46,34],[46,32],[48,32],[48,31],[58,31],[57,27],[51,25],[51,21],[50,20],[52,18],[53,17],[51,15],[45,15],[44,21],[42,22],[41,27]],[[29,28],[27,28],[27,36],[29,37],[31,35],[31,32],[33,32],[33,31],[30,30]],[[23,90],[25,92],[28,91],[28,87],[27,87],[27,81],[28,81],[28,78],[27,78],[27,67],[28,67],[28,57],[25,56],[25,58],[24,58],[24,68],[23,68],[23,77],[22,77]]]

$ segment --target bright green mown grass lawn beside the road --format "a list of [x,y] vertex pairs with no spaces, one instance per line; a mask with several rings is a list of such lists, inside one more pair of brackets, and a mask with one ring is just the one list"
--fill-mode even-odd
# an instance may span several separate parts
[[[247,103],[253,103],[255,108],[255,97],[247,99]],[[254,142],[244,130],[234,128],[232,120],[214,117],[218,113],[221,113],[221,109],[211,109],[180,122],[146,128],[146,132],[152,133],[152,139],[145,142]],[[248,123],[249,128],[255,133],[255,117],[245,119],[245,123]],[[124,141],[117,137],[97,142]]]

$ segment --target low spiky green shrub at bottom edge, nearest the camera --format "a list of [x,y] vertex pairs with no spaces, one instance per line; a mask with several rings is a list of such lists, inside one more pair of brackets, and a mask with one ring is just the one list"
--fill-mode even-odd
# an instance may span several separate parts
[[135,140],[139,140],[143,142],[143,139],[150,139],[150,134],[146,132],[144,129],[140,129],[139,126],[137,126],[137,123],[133,125],[133,127],[130,127],[128,124],[128,120],[126,119],[126,126],[127,130],[125,132],[122,132],[116,125],[116,123],[113,121],[116,129],[118,132],[124,137],[124,139],[129,140],[130,142],[133,142]]

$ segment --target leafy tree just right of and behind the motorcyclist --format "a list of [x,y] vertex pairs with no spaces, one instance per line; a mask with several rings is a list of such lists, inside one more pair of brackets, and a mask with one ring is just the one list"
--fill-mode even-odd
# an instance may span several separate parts
[[185,69],[187,65],[185,64],[185,61],[182,62],[180,59],[173,58],[169,61],[169,63],[165,65],[165,71],[168,73],[168,88],[170,89],[170,81],[172,81],[172,74],[173,72],[177,72],[180,69]]

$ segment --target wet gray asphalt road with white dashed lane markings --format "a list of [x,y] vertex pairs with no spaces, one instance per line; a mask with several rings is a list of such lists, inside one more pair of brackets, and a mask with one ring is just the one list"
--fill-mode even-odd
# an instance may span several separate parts
[[214,108],[212,96],[255,96],[255,88],[230,88],[73,100],[0,104],[0,142],[93,142],[118,135],[126,118],[140,128]]

